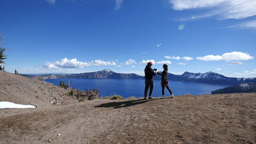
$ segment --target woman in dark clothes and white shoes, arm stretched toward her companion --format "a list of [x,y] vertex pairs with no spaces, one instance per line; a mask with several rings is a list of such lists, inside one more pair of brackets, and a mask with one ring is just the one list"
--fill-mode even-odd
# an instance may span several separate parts
[[164,69],[164,71],[162,73],[157,72],[157,74],[162,76],[161,77],[161,86],[162,86],[162,98],[161,99],[165,99],[165,87],[167,88],[167,90],[170,92],[170,94],[174,98],[174,94],[173,94],[172,90],[169,88],[169,84],[168,84],[168,78],[167,78],[168,65],[164,64],[163,69]]

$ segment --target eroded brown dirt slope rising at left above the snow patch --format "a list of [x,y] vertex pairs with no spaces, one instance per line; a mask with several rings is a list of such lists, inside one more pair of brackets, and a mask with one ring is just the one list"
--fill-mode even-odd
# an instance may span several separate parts
[[[0,72],[0,101],[38,105],[39,108],[77,103],[78,100],[68,97],[67,92],[67,90],[45,81],[9,72]],[[54,105],[52,101],[56,101]]]

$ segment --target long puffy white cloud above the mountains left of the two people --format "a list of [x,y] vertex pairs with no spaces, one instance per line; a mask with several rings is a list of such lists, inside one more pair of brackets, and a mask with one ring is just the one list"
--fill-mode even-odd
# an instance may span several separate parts
[[68,60],[67,58],[61,59],[61,61],[56,62],[46,62],[43,67],[50,69],[57,68],[83,68],[84,66],[106,66],[106,65],[116,65],[115,62],[105,62],[102,60],[94,60],[91,62],[79,62],[76,58]]

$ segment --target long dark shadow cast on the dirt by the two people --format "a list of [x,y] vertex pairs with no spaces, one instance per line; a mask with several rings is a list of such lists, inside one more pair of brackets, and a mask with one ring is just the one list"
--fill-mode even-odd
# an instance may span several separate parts
[[[165,98],[165,99],[171,99],[171,98]],[[128,100],[128,101],[120,101],[120,102],[109,102],[109,103],[103,103],[99,106],[95,106],[94,108],[124,108],[124,107],[130,107],[138,104],[143,104],[148,101],[152,100],[165,100],[165,99],[136,99],[136,100]]]

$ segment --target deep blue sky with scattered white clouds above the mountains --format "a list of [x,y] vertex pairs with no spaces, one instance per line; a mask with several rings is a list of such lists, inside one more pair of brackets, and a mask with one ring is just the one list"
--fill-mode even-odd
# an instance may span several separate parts
[[255,0],[0,0],[6,70],[256,77]]

